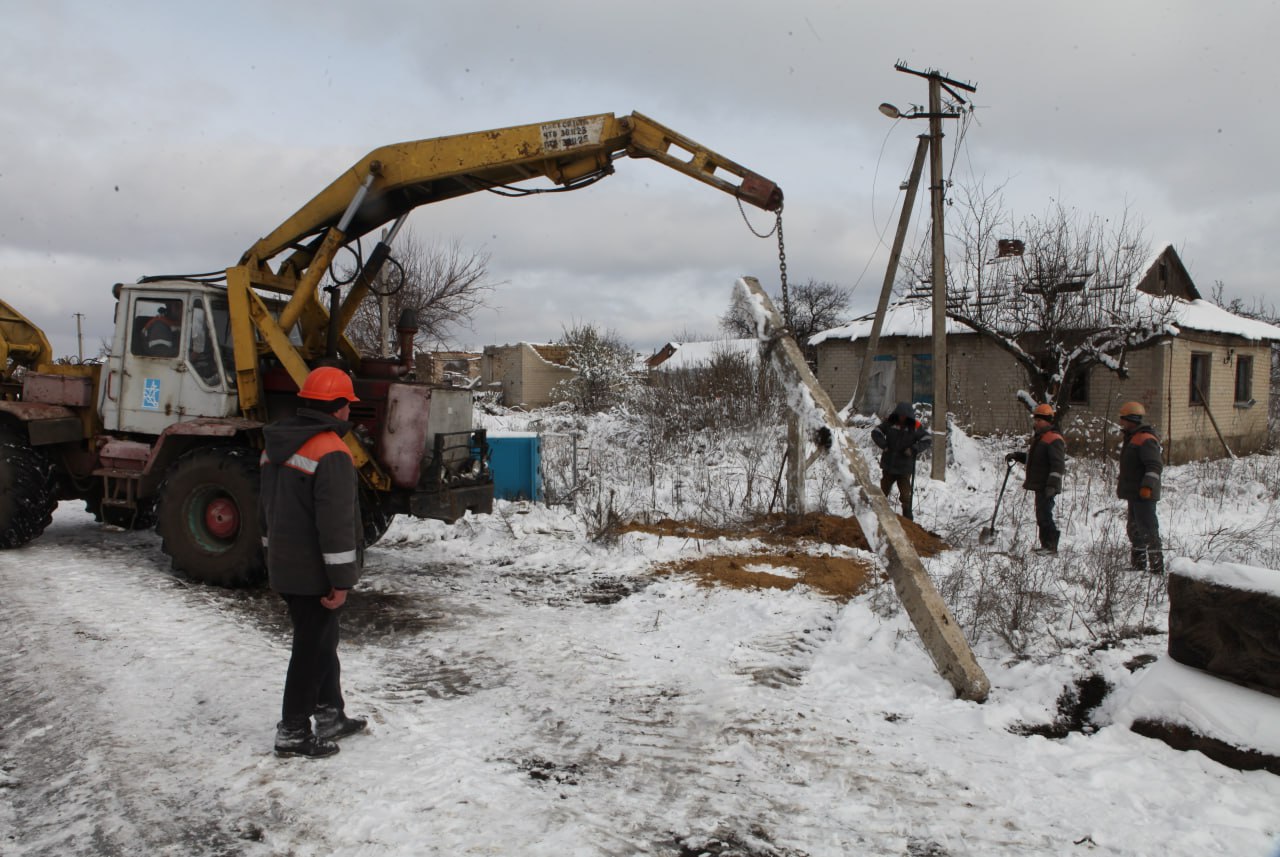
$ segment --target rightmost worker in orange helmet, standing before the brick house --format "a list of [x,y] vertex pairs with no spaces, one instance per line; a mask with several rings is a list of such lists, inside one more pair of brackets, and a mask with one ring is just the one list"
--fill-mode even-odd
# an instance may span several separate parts
[[1140,402],[1120,405],[1120,475],[1116,496],[1129,504],[1129,567],[1135,572],[1165,573],[1164,546],[1160,542],[1160,475],[1165,469],[1164,450],[1156,430],[1147,425],[1147,409]]

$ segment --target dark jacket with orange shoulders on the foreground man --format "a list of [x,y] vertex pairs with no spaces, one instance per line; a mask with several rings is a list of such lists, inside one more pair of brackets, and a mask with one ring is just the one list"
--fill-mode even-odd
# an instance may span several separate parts
[[342,440],[349,430],[351,423],[310,408],[262,430],[259,515],[276,592],[328,595],[360,579],[357,476]]

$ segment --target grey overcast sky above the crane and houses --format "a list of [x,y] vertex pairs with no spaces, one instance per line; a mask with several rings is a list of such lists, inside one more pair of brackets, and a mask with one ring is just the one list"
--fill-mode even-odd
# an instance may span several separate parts
[[[956,182],[1015,214],[1125,207],[1201,292],[1276,302],[1280,187],[1262,0],[852,3],[0,0],[0,297],[58,354],[111,335],[110,287],[234,263],[367,151],[640,111],[786,193],[792,283],[874,306],[923,104],[896,60],[978,87]],[[772,215],[748,208],[767,230]],[[571,194],[426,206],[424,240],[490,255],[493,311],[456,345],[549,342],[572,322],[639,349],[714,335],[732,281],[771,290],[777,244],[728,196],[650,161]],[[927,223],[918,221],[919,230]]]

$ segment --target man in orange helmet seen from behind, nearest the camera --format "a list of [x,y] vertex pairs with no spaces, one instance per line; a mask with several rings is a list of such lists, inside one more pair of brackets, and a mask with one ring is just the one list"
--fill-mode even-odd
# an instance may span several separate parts
[[307,375],[298,397],[297,416],[264,428],[259,509],[271,588],[293,622],[275,753],[320,757],[367,725],[346,714],[338,663],[338,615],[360,579],[364,545],[356,467],[342,440],[358,399],[332,366]]

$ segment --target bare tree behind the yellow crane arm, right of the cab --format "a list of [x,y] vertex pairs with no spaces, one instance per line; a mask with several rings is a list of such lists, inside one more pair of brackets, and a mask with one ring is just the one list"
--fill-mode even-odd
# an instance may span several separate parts
[[[388,261],[374,280],[376,294],[389,294],[392,333],[403,310],[417,316],[417,347],[447,343],[458,327],[468,327],[477,310],[489,306],[498,283],[489,280],[489,253],[467,251],[457,242],[424,244],[403,230]],[[347,271],[349,279],[353,271]],[[365,354],[380,352],[381,308],[370,297],[356,310],[347,336]]]

